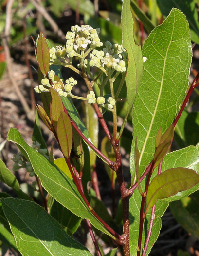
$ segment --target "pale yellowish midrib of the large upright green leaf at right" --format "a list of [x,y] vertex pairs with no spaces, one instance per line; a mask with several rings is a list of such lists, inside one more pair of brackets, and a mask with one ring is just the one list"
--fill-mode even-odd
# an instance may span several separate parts
[[[175,16],[175,14],[174,14],[174,16]],[[175,17],[174,17],[174,19],[175,19]],[[174,23],[173,23],[173,24],[174,24]],[[153,116],[152,116],[152,118],[151,118],[151,123],[150,123],[149,129],[148,129],[148,132],[147,132],[146,137],[145,137],[145,141],[144,141],[142,150],[141,150],[141,152],[140,152],[139,164],[141,163],[142,156],[143,156],[143,153],[144,153],[144,151],[145,151],[146,143],[147,143],[147,140],[148,140],[148,138],[149,138],[149,135],[150,135],[150,132],[151,132],[151,129],[152,129],[152,125],[153,125],[153,122],[154,122],[154,119],[155,119],[155,115],[156,115],[156,112],[157,112],[158,104],[159,104],[159,101],[160,101],[160,97],[161,97],[161,93],[162,93],[162,88],[163,88],[163,81],[164,81],[163,78],[164,78],[165,65],[166,65],[166,60],[167,60],[167,54],[168,54],[169,47],[170,47],[171,42],[172,42],[173,32],[174,32],[174,25],[173,25],[173,31],[172,31],[172,33],[171,33],[171,39],[170,39],[168,48],[167,48],[167,50],[166,50],[166,56],[165,56],[165,59],[164,59],[163,76],[162,76],[162,80],[161,80],[161,86],[160,86],[160,91],[159,91],[158,99],[157,99],[157,102],[156,102],[156,106],[155,106],[155,109],[154,109]]]

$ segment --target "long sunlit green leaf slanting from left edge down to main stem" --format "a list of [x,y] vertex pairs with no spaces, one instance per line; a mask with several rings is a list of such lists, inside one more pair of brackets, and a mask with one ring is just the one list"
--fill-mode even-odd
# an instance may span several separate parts
[[[56,165],[50,163],[41,154],[25,143],[17,129],[11,128],[8,140],[13,141],[25,158],[32,164],[33,169],[40,178],[44,189],[73,214],[90,220],[90,223],[105,234],[113,237],[89,211],[86,203],[80,196],[72,180]],[[66,200],[68,198],[68,200]],[[70,200],[69,200],[70,198]]]

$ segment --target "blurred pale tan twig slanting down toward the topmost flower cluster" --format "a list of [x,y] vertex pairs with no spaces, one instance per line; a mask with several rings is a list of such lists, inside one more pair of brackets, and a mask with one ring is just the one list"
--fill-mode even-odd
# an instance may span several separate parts
[[30,0],[30,2],[35,6],[36,10],[42,14],[42,16],[49,22],[51,25],[53,31],[57,33],[57,35],[62,39],[65,40],[64,33],[59,29],[57,24],[54,22],[54,20],[51,18],[51,16],[48,14],[46,9],[39,3],[37,3],[35,0]]

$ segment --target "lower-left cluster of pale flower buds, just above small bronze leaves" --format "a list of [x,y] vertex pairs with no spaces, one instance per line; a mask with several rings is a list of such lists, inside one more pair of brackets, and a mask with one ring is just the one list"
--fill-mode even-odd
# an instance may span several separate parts
[[35,87],[36,93],[49,92],[50,88],[53,87],[54,90],[56,90],[60,96],[67,97],[67,95],[70,95],[72,87],[77,84],[77,81],[71,77],[67,79],[65,81],[66,84],[64,84],[62,79],[60,79],[59,81],[56,81],[54,79],[54,75],[55,73],[53,70],[49,71],[48,77],[49,79],[51,79],[53,83],[52,86],[49,83],[49,79],[43,78],[41,79],[41,84]]

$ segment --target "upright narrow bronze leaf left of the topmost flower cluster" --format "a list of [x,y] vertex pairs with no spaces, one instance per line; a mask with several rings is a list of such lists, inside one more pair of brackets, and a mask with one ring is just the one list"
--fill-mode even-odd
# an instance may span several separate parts
[[42,32],[40,32],[39,34],[36,53],[37,53],[37,61],[38,61],[38,65],[41,70],[41,73],[44,76],[47,76],[48,71],[50,70],[49,68],[50,53],[49,53],[48,44],[46,42],[46,38]]

